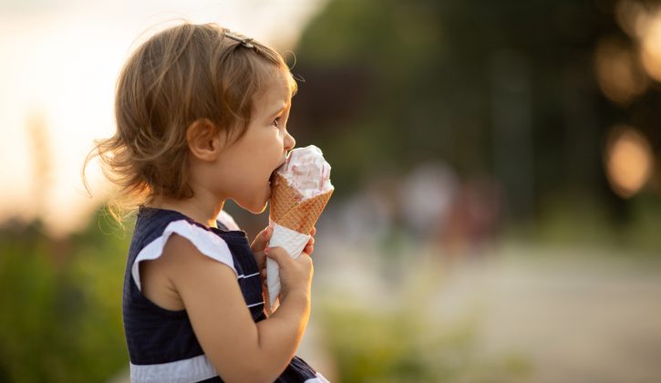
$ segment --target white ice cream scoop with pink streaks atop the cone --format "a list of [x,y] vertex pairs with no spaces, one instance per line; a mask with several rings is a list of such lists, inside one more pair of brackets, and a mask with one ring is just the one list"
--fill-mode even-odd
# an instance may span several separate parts
[[304,200],[333,189],[330,165],[315,145],[291,150],[277,172],[283,175],[291,187],[303,194]]

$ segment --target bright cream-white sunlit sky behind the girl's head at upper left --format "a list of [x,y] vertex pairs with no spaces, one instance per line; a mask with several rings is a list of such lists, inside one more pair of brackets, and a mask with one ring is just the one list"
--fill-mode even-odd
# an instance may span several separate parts
[[[114,130],[119,69],[139,36],[170,20],[217,22],[291,49],[326,0],[0,5],[0,223],[41,218],[53,234],[84,224],[108,191],[98,166],[80,172],[92,140]],[[35,121],[38,128],[34,129]],[[33,128],[30,128],[32,126]],[[47,163],[48,166],[43,164]],[[44,202],[39,202],[44,201]]]

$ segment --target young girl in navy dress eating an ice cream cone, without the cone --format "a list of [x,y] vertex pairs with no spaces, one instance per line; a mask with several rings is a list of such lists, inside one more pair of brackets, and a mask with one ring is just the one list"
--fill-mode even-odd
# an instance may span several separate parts
[[[212,24],[162,31],[122,69],[117,132],[92,156],[124,202],[139,205],[123,293],[132,381],[326,381],[294,357],[310,315],[314,239],[294,260],[265,248],[272,229],[249,244],[222,213],[227,199],[265,209],[272,172],[294,148],[295,90],[272,48]],[[264,254],[283,286],[268,318]]]

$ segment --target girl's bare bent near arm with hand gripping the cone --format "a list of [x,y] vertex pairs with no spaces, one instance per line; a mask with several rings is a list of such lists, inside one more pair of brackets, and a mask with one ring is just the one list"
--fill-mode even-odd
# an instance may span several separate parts
[[273,316],[255,324],[230,267],[172,235],[161,262],[180,295],[204,353],[225,381],[274,381],[298,347],[310,316],[312,261],[268,249],[281,267],[283,293]]

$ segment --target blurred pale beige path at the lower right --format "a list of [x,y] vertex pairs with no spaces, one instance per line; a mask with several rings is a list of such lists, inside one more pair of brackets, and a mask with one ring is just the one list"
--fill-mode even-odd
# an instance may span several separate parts
[[511,247],[446,265],[435,314],[477,315],[477,349],[522,355],[532,382],[661,382],[661,263],[604,253]]

